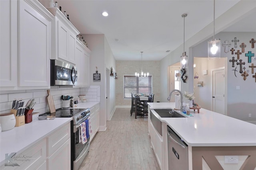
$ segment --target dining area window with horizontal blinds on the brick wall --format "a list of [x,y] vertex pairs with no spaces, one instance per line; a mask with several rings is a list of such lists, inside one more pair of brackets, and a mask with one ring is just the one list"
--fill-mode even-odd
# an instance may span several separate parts
[[124,98],[131,98],[131,93],[152,93],[152,76],[136,77],[124,75]]

